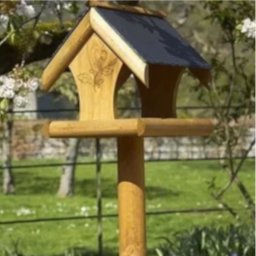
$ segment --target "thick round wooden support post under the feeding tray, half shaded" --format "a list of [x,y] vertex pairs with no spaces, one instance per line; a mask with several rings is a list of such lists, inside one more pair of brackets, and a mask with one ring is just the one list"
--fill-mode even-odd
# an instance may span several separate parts
[[118,138],[119,256],[146,256],[143,138]]

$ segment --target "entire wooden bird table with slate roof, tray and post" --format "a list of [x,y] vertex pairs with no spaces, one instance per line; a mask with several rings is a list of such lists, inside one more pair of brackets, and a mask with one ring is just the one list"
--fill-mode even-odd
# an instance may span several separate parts
[[[207,88],[211,66],[166,21],[161,11],[89,0],[77,22],[45,67],[49,90],[67,68],[79,96],[79,120],[45,125],[50,138],[104,138],[118,141],[120,256],[145,256],[143,138],[209,136],[209,119],[176,117],[178,86],[185,69]],[[135,76],[141,118],[117,115],[118,90]]]

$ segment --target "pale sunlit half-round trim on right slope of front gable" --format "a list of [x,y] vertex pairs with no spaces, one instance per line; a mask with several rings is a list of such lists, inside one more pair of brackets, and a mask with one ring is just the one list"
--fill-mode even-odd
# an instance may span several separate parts
[[97,35],[148,86],[148,64],[103,19],[96,9],[90,10],[90,22]]

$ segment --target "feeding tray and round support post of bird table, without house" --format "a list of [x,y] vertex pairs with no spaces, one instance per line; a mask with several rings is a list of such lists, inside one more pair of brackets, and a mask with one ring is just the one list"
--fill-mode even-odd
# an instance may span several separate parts
[[50,138],[117,138],[119,255],[145,256],[144,137],[208,136],[213,128],[208,119],[53,121],[45,125],[45,134]]

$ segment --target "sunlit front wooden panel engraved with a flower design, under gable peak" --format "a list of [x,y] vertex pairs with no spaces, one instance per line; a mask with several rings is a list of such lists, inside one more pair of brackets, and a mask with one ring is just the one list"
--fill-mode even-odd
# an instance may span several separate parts
[[80,120],[115,118],[115,87],[122,82],[122,67],[123,62],[94,33],[69,65],[77,84]]

